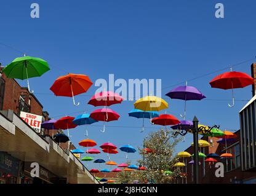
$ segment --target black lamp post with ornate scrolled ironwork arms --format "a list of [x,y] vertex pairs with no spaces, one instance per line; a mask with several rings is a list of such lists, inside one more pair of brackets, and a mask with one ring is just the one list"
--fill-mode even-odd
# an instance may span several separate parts
[[210,134],[211,130],[216,128],[219,129],[220,126],[214,125],[212,127],[205,127],[205,126],[200,126],[198,127],[198,118],[194,116],[193,119],[193,126],[178,126],[178,130],[174,132],[174,137],[177,137],[178,135],[186,135],[188,132],[193,133],[193,141],[194,141],[194,183],[199,184],[199,175],[198,175],[198,132],[201,132],[202,135]]

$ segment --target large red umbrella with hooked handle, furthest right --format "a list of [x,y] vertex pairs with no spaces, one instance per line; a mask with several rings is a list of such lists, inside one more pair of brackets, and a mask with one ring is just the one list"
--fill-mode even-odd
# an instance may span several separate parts
[[232,89],[232,104],[228,104],[229,107],[234,106],[234,88],[244,88],[249,85],[254,84],[254,78],[250,77],[248,74],[243,72],[232,72],[230,67],[230,72],[225,72],[224,74],[217,75],[214,79],[210,81],[210,86],[212,88],[220,89]]

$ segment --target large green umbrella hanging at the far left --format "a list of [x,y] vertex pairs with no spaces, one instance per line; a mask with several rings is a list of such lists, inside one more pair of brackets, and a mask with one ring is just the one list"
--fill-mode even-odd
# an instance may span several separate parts
[[[25,56],[15,58],[9,65],[2,70],[7,78],[17,78],[24,80],[33,77],[40,77],[50,68],[46,61],[41,58]],[[30,83],[28,82],[28,91],[30,91]]]

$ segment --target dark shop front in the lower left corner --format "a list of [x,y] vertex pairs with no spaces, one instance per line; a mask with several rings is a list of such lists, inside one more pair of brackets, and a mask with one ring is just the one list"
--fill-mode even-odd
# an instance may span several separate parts
[[17,184],[19,171],[20,160],[0,152],[0,184]]

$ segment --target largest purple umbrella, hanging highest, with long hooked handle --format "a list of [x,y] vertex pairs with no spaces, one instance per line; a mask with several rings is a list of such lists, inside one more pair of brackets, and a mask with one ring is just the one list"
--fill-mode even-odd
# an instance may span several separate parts
[[194,86],[187,86],[187,83],[186,83],[186,86],[178,86],[177,88],[172,89],[172,91],[168,92],[166,94],[166,96],[170,97],[171,99],[185,100],[184,115],[180,115],[183,117],[184,120],[186,118],[186,101],[187,100],[201,100],[201,99],[206,98],[206,96],[204,96],[202,94],[202,92],[200,92]]

